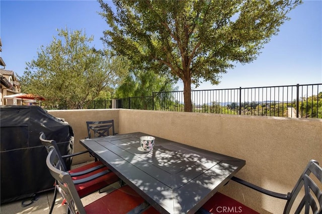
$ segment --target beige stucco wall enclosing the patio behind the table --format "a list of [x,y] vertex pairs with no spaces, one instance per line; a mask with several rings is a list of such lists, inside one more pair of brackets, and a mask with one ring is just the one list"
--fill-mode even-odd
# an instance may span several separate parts
[[[246,160],[237,177],[272,191],[291,191],[308,160],[322,164],[322,120],[143,110],[50,111],[65,118],[75,145],[88,120],[116,122],[116,132],[144,132]],[[156,142],[157,143],[157,142]],[[261,213],[282,213],[285,201],[229,182],[221,192]]]

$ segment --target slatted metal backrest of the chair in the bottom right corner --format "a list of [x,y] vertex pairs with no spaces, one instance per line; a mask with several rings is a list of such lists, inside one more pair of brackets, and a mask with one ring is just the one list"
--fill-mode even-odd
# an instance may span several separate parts
[[299,203],[295,213],[300,213],[303,208],[305,213],[309,213],[309,208],[311,208],[313,213],[322,213],[321,186],[322,168],[318,165],[317,161],[310,160],[292,192],[290,193],[290,197],[286,203],[284,213],[290,213],[292,205],[297,198],[298,193],[303,188],[305,194],[301,199],[301,202]]

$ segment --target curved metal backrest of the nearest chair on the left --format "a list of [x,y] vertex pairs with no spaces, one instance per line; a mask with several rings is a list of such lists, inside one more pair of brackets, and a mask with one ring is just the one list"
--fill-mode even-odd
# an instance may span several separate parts
[[56,185],[60,187],[60,193],[67,201],[68,209],[75,214],[76,206],[80,214],[86,213],[71,176],[68,172],[61,170],[62,163],[63,162],[60,161],[59,155],[57,154],[57,150],[51,147],[46,159],[46,164],[50,174],[56,179]]

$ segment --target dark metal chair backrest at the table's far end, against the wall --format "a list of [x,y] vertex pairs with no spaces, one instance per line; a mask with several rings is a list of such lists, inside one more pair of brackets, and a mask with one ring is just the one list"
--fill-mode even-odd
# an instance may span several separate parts
[[[86,124],[89,138],[99,138],[104,136],[115,135],[114,120],[87,121]],[[110,131],[112,132],[110,133]]]

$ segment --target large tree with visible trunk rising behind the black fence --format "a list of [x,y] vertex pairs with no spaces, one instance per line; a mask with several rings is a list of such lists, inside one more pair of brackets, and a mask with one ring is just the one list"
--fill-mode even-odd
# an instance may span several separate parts
[[109,25],[103,41],[134,63],[167,72],[184,84],[185,111],[192,111],[191,84],[218,84],[233,63],[250,63],[277,35],[300,1],[118,1],[113,11],[98,0]]

